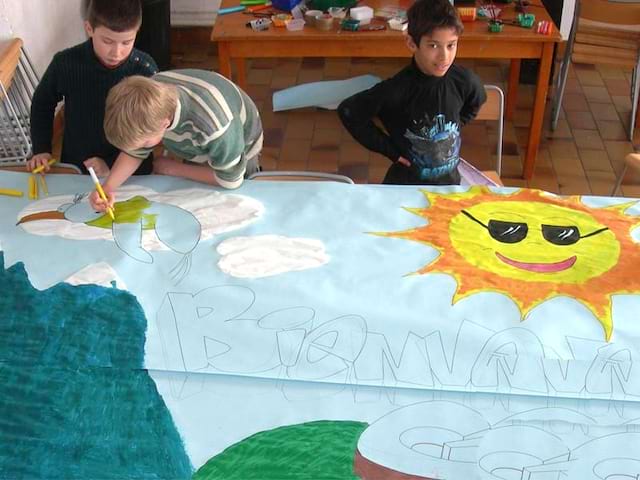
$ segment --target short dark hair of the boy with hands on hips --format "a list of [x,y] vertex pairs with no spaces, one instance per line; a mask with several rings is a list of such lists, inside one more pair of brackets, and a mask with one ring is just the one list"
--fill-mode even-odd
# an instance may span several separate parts
[[453,28],[461,35],[464,26],[458,11],[449,0],[416,0],[407,11],[409,36],[420,47],[424,35],[430,35],[436,28]]

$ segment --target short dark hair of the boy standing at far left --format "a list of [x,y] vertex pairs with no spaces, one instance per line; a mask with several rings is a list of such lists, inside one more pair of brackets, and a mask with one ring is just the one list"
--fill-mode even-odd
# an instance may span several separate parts
[[140,0],[84,0],[85,19],[92,28],[106,27],[114,32],[138,30],[142,24]]

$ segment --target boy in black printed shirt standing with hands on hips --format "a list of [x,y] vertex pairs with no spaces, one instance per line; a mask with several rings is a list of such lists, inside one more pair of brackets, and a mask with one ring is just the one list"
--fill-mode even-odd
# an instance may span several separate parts
[[393,162],[383,183],[458,184],[460,127],[486,101],[484,86],[453,63],[463,26],[449,0],[416,0],[407,17],[411,64],[344,100],[338,113],[358,142]]

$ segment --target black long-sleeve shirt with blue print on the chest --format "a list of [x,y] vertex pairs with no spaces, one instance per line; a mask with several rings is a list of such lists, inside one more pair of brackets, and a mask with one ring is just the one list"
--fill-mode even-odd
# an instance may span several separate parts
[[416,181],[442,183],[457,178],[452,172],[459,161],[460,127],[476,116],[486,98],[482,81],[470,70],[454,64],[435,77],[412,61],[395,76],[344,100],[338,113],[369,150],[392,162],[410,160],[409,176]]

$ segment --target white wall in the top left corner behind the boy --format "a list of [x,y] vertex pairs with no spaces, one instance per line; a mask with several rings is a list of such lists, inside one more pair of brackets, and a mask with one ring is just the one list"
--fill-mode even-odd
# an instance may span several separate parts
[[86,39],[81,0],[0,0],[0,39],[20,37],[42,75],[54,53]]

